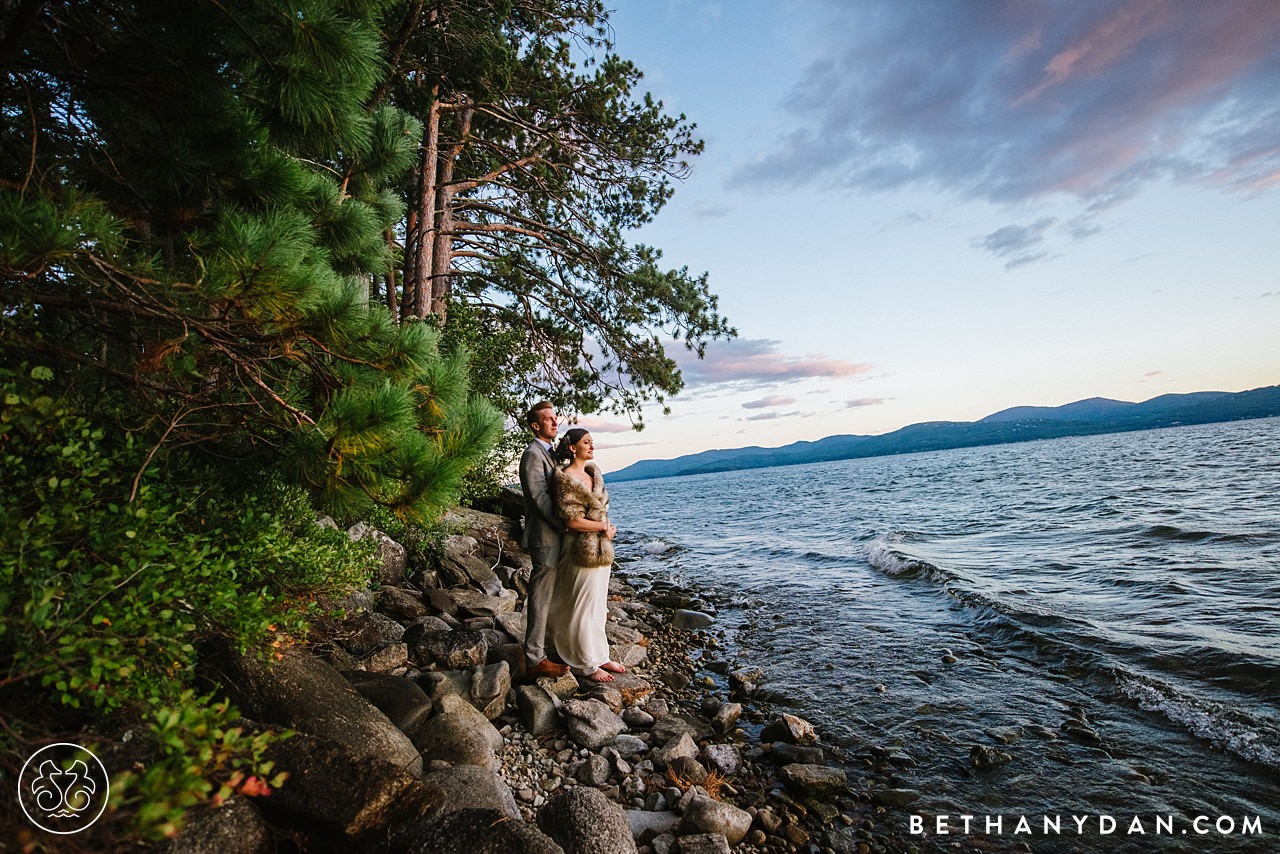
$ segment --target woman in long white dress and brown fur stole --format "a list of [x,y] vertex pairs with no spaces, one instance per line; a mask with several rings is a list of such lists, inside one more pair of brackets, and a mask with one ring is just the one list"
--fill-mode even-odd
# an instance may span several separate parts
[[547,627],[557,654],[576,675],[612,682],[611,673],[626,672],[609,661],[604,635],[618,529],[609,524],[609,493],[593,462],[591,434],[573,428],[559,440],[556,456],[564,463],[556,471],[556,501],[566,530]]

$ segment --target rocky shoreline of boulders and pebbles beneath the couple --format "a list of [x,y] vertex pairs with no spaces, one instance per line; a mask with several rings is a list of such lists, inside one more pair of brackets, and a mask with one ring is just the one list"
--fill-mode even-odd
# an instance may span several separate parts
[[[524,677],[518,522],[457,510],[434,567],[378,531],[378,586],[278,661],[207,673],[289,777],[207,808],[172,851],[913,851],[890,750],[849,757],[727,661],[716,603],[614,574],[628,672]],[[893,810],[899,810],[895,814]]]

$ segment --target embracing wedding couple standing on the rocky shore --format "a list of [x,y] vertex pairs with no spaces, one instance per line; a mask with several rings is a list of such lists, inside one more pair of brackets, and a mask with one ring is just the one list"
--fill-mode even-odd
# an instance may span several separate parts
[[520,458],[522,544],[534,565],[525,599],[526,672],[561,676],[572,668],[576,676],[611,682],[611,673],[626,672],[609,661],[604,635],[618,529],[609,522],[595,446],[582,428],[557,444],[556,407],[547,401],[535,403],[525,423],[534,433]]

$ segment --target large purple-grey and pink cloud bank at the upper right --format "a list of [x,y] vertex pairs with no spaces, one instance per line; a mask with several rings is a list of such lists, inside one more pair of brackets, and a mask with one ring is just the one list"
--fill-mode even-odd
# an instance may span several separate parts
[[1098,210],[1280,186],[1280,3],[813,3],[788,131],[735,186],[909,186]]

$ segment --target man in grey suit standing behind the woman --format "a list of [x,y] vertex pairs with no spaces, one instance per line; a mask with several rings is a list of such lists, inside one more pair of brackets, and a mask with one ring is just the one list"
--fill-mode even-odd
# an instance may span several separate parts
[[534,571],[529,575],[525,599],[525,670],[534,679],[562,676],[568,667],[547,658],[547,612],[556,589],[556,565],[564,530],[556,512],[556,407],[548,401],[535,403],[525,419],[534,440],[520,457],[520,488],[525,493],[525,536]]

